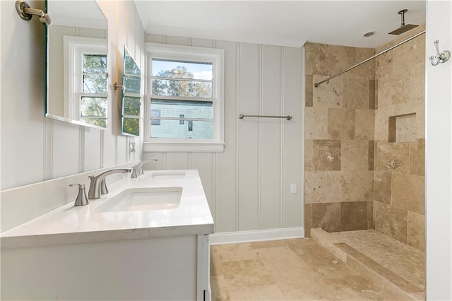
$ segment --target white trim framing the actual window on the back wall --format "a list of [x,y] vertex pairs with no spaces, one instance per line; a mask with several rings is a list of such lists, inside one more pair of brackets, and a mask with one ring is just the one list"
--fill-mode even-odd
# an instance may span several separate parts
[[[225,50],[215,48],[191,47],[146,43],[146,101],[145,101],[145,138],[143,151],[170,152],[201,152],[222,153],[225,148]],[[152,88],[150,82],[150,59],[186,59],[213,62],[213,139],[177,139],[150,138],[150,98]]]

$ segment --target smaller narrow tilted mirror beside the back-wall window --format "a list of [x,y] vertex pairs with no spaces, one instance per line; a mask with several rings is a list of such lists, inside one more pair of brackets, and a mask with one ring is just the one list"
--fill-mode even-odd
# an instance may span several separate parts
[[141,69],[124,46],[121,134],[140,136]]

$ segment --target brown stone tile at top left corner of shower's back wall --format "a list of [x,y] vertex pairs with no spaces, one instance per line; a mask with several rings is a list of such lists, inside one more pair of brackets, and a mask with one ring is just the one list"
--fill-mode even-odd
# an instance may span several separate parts
[[328,45],[307,42],[305,73],[328,75]]

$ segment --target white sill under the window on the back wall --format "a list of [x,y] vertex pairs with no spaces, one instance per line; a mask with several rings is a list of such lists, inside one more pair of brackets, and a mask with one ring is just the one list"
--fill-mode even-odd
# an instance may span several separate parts
[[222,153],[225,143],[162,143],[146,142],[144,153]]

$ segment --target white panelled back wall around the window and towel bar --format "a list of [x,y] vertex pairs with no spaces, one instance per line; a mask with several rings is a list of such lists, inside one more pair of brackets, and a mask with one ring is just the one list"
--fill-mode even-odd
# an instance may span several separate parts
[[[215,232],[302,227],[302,49],[164,35],[145,40],[225,49],[226,143],[224,153],[145,153],[158,159],[145,168],[199,170]],[[292,183],[297,194],[290,194]]]

